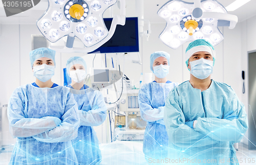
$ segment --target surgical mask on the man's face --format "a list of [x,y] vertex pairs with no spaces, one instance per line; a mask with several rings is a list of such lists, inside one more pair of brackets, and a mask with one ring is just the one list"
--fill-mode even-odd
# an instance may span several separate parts
[[213,61],[205,60],[204,58],[196,61],[191,61],[190,73],[199,79],[205,79],[209,77],[209,75],[212,73],[213,65]]

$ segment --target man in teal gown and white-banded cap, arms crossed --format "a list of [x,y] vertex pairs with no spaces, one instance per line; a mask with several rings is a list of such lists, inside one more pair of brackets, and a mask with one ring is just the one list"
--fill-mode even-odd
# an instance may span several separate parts
[[245,107],[230,86],[211,79],[216,53],[209,42],[191,42],[185,57],[190,79],[170,92],[164,111],[172,155],[180,164],[238,164],[233,144],[248,129]]

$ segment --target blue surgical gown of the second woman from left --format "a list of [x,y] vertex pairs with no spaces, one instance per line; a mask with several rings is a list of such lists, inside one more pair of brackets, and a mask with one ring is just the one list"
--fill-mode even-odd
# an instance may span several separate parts
[[78,136],[74,139],[73,147],[79,164],[99,164],[101,152],[99,141],[93,126],[101,125],[106,119],[106,105],[102,94],[84,85],[80,90],[74,90],[71,85],[78,105],[80,127]]

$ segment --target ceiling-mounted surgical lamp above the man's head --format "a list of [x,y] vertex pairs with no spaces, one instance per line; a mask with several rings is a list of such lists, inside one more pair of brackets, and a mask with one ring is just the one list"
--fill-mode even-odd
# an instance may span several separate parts
[[233,29],[238,22],[238,17],[227,14],[216,0],[195,0],[194,3],[170,0],[159,9],[158,15],[167,22],[159,38],[173,49],[197,39],[205,39],[215,46],[224,39],[218,26]]

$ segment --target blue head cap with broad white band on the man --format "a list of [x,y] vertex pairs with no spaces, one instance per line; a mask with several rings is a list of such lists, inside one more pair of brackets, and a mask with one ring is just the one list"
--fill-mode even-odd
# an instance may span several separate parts
[[186,65],[188,65],[188,59],[198,51],[207,51],[211,54],[211,56],[214,58],[214,63],[215,63],[215,58],[216,58],[216,53],[214,50],[214,46],[212,46],[208,41],[204,39],[199,39],[191,42],[186,49],[186,54],[185,54],[185,59],[186,59]]

